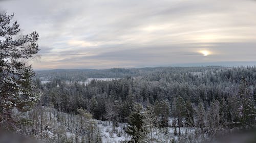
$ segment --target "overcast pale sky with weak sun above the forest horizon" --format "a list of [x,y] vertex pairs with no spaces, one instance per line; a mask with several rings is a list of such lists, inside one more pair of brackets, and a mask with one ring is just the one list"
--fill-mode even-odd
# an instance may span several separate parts
[[39,33],[33,69],[256,61],[253,0],[0,0],[0,11]]

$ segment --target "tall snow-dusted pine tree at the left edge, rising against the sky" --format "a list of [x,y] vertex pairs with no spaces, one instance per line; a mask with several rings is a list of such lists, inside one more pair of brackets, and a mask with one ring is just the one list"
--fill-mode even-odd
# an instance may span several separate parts
[[[38,100],[31,77],[29,60],[38,52],[38,34],[18,35],[17,21],[12,15],[0,13],[0,126],[15,127],[12,109],[27,111]],[[9,126],[10,127],[10,126]]]

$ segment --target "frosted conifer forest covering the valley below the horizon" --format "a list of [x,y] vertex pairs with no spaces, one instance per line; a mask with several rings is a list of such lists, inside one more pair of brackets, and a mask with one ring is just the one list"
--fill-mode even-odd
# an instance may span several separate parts
[[[109,132],[112,134],[130,136],[122,140],[127,142],[203,142],[231,132],[254,128],[255,67],[149,69],[115,70],[116,75],[125,76],[120,78],[112,73],[112,69],[105,70],[106,75],[113,75],[109,77],[116,79],[104,81],[95,78],[87,84],[66,80],[69,74],[73,76],[72,79],[78,79],[80,70],[61,74],[38,71],[34,82],[42,95],[34,110],[49,119],[39,122],[40,116],[36,116],[38,119],[29,117],[26,120],[37,122],[38,125],[26,125],[22,128],[34,130],[34,133],[27,131],[31,135],[39,135],[39,127],[49,126],[47,122],[51,123],[53,120],[50,118],[57,117],[60,124],[65,123],[61,126],[65,133],[73,133],[74,138],[71,137],[71,140],[76,142],[99,142],[99,139],[100,142],[106,142],[102,140],[104,138],[97,137],[102,137],[104,130],[82,126],[88,126],[86,122],[91,121],[89,119],[110,126]],[[86,75],[86,71],[83,72]],[[135,73],[135,76],[131,76],[131,73]],[[46,75],[52,78],[49,82],[42,83],[40,78],[44,79]],[[94,77],[98,77],[98,74],[85,78]],[[80,123],[78,120],[81,115],[85,119]],[[74,123],[74,120],[77,122]],[[122,129],[119,129],[120,123]],[[77,131],[79,126],[81,130]],[[94,135],[88,136],[88,130]],[[165,136],[165,140],[159,139],[162,136]],[[48,140],[46,134],[44,137],[42,138]],[[67,138],[70,139],[69,137]]]

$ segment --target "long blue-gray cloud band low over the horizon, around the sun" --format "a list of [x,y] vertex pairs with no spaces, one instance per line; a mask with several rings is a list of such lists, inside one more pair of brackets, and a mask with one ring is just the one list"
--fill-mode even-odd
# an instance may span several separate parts
[[[79,66],[84,66],[88,61],[97,61],[102,65],[106,62],[112,63],[115,66],[119,66],[119,63],[124,67],[134,66],[152,66],[152,65],[173,65],[182,63],[213,63],[213,62],[230,62],[234,61],[253,61],[255,60],[254,54],[256,49],[254,46],[256,43],[208,43],[211,45],[208,50],[214,51],[216,54],[209,56],[202,56],[200,53],[195,52],[198,47],[198,43],[190,47],[176,46],[176,47],[140,47],[134,49],[120,49],[113,51],[106,51],[96,55],[83,55],[66,56],[61,60],[56,60],[56,63],[72,64],[76,63]],[[248,54],[241,47],[250,50],[252,53]],[[181,50],[183,49],[183,51]],[[195,49],[195,50],[191,50]],[[188,52],[190,50],[190,52]],[[232,52],[233,51],[233,52]],[[65,55],[65,52],[61,53]],[[116,65],[115,62],[118,61]],[[88,66],[88,65],[87,65]],[[90,68],[91,65],[90,65]]]

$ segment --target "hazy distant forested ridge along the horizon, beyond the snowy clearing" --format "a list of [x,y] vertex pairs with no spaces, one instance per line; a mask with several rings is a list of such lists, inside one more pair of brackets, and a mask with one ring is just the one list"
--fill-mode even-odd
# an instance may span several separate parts
[[112,69],[56,69],[56,70],[40,70],[36,71],[36,77],[40,78],[42,81],[50,81],[54,78],[65,81],[85,81],[87,78],[122,78],[122,77],[136,77],[144,76],[146,74],[151,74],[155,72],[174,72],[187,71],[187,72],[202,72],[205,69],[218,70],[225,69],[224,67],[156,67],[156,68],[133,68],[133,69],[124,69],[124,68],[112,68]]

